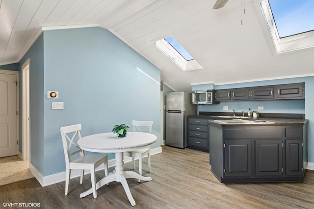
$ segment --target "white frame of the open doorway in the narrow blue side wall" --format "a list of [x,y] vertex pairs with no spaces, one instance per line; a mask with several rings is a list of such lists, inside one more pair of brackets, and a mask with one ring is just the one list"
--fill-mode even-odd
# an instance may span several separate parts
[[29,63],[22,65],[22,159],[30,160],[29,155]]

